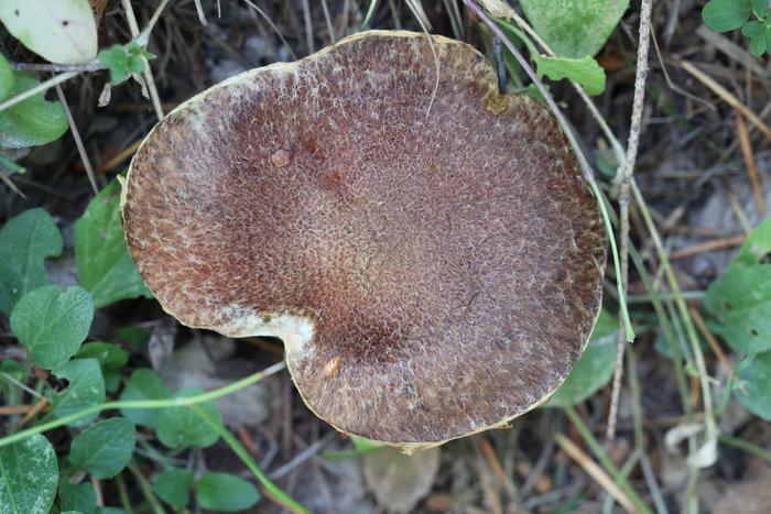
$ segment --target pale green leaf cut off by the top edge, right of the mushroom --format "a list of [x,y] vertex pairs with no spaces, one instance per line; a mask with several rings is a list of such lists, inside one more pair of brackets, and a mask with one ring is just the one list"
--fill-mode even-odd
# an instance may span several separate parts
[[535,32],[561,57],[594,56],[602,48],[629,0],[521,0]]

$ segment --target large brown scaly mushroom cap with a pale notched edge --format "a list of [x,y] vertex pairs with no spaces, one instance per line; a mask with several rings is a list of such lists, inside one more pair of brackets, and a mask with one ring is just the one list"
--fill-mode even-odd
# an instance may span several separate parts
[[195,96],[142,144],[123,205],[166,311],[280,337],[318,416],[408,448],[543,403],[589,338],[606,259],[551,114],[498,95],[471,46],[433,42],[438,87],[426,36],[373,31]]

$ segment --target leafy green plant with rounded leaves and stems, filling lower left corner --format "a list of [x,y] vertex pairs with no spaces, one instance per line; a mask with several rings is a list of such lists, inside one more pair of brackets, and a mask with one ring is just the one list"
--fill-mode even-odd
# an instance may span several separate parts
[[[11,330],[26,349],[25,360],[0,364],[0,394],[4,403],[14,405],[31,391],[51,404],[48,412],[32,418],[30,429],[0,438],[0,514],[47,513],[54,506],[61,512],[122,512],[99,510],[86,478],[123,481],[129,470],[130,477],[140,480],[135,469],[129,469],[142,464],[134,451],[137,427],[154,429],[152,441],[161,452],[164,447],[174,452],[205,448],[224,438],[279,501],[303,512],[262,474],[222,426],[213,403],[220,394],[260,380],[263,373],[214,394],[200,390],[173,394],[151,370],[138,369],[123,378],[129,354],[119,346],[84,342],[96,308],[146,295],[128,258],[118,192],[117,182],[111,183],[77,221],[75,255],[80,285],[66,291],[51,284],[45,272],[44,260],[62,252],[62,234],[45,210],[24,211],[0,229],[0,309],[10,314]],[[48,370],[51,378],[35,379],[33,367]],[[61,380],[67,385],[58,386]],[[107,391],[118,393],[120,401],[105,404]],[[116,415],[107,415],[110,407]],[[69,445],[57,445],[58,456],[43,435],[56,427],[67,427],[70,439]],[[160,497],[174,507],[186,506],[193,490],[198,505],[219,512],[248,508],[260,500],[254,485],[238,477],[196,475],[171,467],[158,474],[154,489],[144,489],[149,502]]]

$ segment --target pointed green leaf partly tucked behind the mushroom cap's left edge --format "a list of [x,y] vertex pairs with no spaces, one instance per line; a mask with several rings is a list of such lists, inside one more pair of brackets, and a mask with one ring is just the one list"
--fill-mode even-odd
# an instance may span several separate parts
[[152,297],[126,245],[117,181],[94,197],[75,223],[75,258],[80,285],[94,295],[97,308]]

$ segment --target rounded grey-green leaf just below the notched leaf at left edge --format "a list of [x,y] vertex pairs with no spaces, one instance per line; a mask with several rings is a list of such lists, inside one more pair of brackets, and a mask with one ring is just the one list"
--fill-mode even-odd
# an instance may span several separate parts
[[37,365],[64,364],[80,348],[94,318],[87,291],[44,285],[24,295],[11,313],[11,330]]

